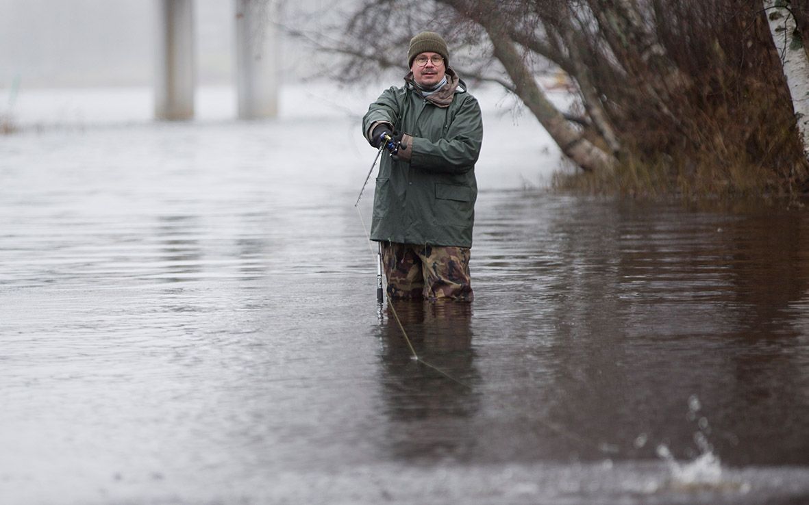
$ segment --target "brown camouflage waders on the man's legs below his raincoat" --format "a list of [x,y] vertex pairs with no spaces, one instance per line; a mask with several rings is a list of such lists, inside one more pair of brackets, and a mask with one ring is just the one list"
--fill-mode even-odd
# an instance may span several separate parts
[[381,243],[388,297],[472,301],[468,247]]

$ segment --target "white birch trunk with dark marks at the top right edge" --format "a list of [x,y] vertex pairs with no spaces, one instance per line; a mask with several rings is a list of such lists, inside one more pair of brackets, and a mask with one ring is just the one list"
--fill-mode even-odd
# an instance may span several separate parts
[[781,57],[792,108],[803,141],[803,154],[809,158],[809,61],[798,34],[795,18],[783,0],[764,0],[769,32]]

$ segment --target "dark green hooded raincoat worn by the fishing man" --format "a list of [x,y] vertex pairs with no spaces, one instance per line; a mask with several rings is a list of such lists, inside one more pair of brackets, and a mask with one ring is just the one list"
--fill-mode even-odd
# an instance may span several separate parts
[[425,98],[408,75],[404,86],[383,91],[362,119],[366,138],[380,122],[404,133],[399,154],[382,154],[371,240],[472,246],[481,107],[451,69],[447,81]]

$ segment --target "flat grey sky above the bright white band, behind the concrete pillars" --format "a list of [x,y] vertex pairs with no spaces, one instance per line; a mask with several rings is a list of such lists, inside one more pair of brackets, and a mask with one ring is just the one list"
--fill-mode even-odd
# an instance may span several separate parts
[[[350,5],[343,0],[341,6]],[[296,0],[284,23],[333,11],[335,2]],[[156,0],[0,0],[0,88],[145,86],[154,74]],[[227,84],[233,75],[233,0],[195,0],[197,82]],[[311,19],[309,19],[311,22]],[[306,49],[282,37],[282,75],[307,74]],[[305,54],[305,57],[295,55]],[[290,56],[293,55],[293,56]]]

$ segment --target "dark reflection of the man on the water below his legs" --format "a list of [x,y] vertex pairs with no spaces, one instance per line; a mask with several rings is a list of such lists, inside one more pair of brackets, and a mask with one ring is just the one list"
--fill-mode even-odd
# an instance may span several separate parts
[[392,457],[464,459],[478,408],[471,320],[468,304],[388,303],[380,384]]

